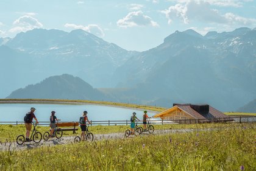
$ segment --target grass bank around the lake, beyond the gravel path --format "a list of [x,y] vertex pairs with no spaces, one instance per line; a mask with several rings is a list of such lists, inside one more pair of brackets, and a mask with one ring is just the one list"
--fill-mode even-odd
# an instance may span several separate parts
[[[135,105],[127,103],[115,103],[115,102],[99,102],[99,101],[89,101],[89,100],[60,100],[60,99],[0,99],[0,103],[93,103],[99,105],[113,105],[113,106],[124,106],[127,108],[140,108],[143,110],[152,110],[152,111],[163,111],[166,108],[160,108],[155,106],[144,106],[144,105]],[[256,116],[256,114],[248,113],[225,113],[227,115],[251,115]],[[166,129],[166,128],[193,128],[194,125],[156,125],[157,129]],[[202,127],[208,127],[202,125]],[[211,127],[211,126],[210,126]],[[91,132],[98,133],[114,133],[114,132],[124,132],[129,126],[93,126],[90,127]],[[24,134],[24,125],[0,125],[0,141],[15,141],[16,136],[19,134]],[[38,130],[41,133],[49,131],[48,127],[38,127]],[[72,132],[64,132],[64,136],[70,135]]]

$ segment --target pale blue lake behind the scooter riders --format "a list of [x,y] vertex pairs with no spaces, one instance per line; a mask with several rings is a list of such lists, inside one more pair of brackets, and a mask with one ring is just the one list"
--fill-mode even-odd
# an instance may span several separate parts
[[[51,111],[55,111],[55,116],[63,122],[78,122],[83,111],[87,111],[89,120],[130,120],[132,113],[137,113],[138,119],[142,120],[144,110],[133,110],[115,106],[101,105],[60,105],[60,104],[30,104],[30,103],[2,103],[0,104],[0,122],[23,122],[24,116],[34,107],[35,116],[39,122],[49,122]],[[155,113],[148,111],[151,117]]]

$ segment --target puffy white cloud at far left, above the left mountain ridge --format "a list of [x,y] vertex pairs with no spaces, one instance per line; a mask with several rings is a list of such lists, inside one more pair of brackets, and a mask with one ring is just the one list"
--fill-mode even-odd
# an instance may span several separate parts
[[35,28],[43,27],[37,19],[29,15],[21,16],[13,22],[13,28],[9,30],[11,33],[15,32],[26,32],[27,30],[32,30]]

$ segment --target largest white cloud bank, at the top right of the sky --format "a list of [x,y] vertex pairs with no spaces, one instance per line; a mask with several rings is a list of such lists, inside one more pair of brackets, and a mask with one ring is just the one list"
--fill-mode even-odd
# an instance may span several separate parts
[[[185,1],[182,0],[182,2]],[[221,14],[218,10],[212,9],[210,2],[216,3],[217,0],[207,2],[202,0],[186,1],[185,4],[170,6],[169,9],[163,10],[162,13],[166,15],[166,18],[168,18],[169,24],[171,24],[174,19],[181,19],[185,24],[191,23],[191,21],[199,21],[208,24],[244,24],[247,26],[256,23],[256,19],[253,18],[244,18],[233,13]]]

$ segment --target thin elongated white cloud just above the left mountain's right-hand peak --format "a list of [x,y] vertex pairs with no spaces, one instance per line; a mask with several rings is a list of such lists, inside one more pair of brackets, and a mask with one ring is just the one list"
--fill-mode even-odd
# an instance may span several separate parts
[[92,34],[94,34],[94,35],[96,35],[98,37],[104,37],[103,30],[101,29],[101,27],[99,27],[96,24],[89,24],[88,26],[82,26],[82,25],[66,23],[65,27],[73,28],[73,29],[82,29],[82,30],[85,30],[85,31],[87,31],[89,33],[92,33]]

